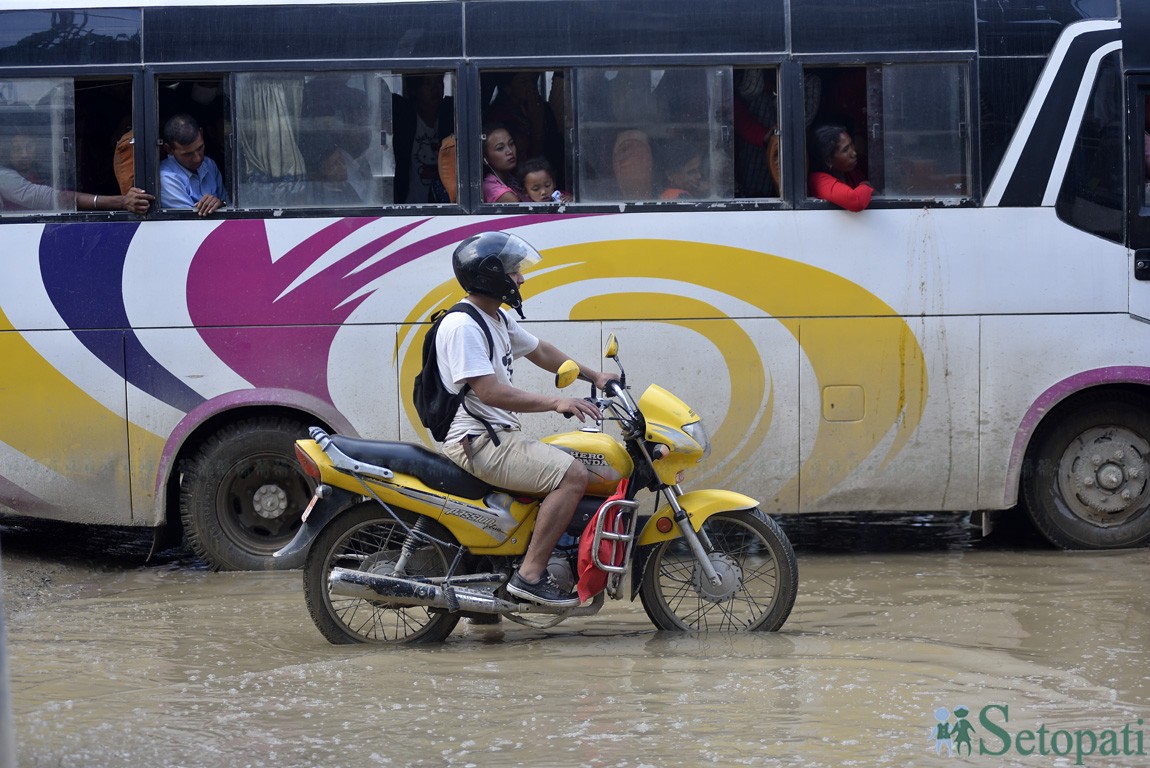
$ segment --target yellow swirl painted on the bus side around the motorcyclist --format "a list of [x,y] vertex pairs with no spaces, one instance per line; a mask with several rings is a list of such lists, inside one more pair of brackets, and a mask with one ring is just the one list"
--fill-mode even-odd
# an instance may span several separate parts
[[[649,278],[697,285],[718,292],[774,317],[798,341],[823,386],[851,383],[866,393],[861,418],[836,423],[819,433],[799,470],[780,491],[804,506],[829,492],[869,456],[884,439],[890,446],[883,464],[896,456],[918,428],[927,397],[922,350],[906,322],[881,299],[833,272],[756,251],[677,240],[613,240],[550,248],[540,269],[529,276],[529,293],[543,295],[560,286],[612,278]],[[425,298],[408,322],[423,321],[454,302],[452,282]],[[774,398],[761,366],[743,361],[758,356],[739,317],[729,317],[699,298],[666,293],[620,292],[578,301],[572,320],[666,322],[706,338],[721,353],[731,382],[730,409],[713,433],[711,462],[737,466],[751,462],[772,422]],[[859,322],[858,318],[866,318]],[[412,381],[420,368],[427,327],[400,329],[400,348],[414,332],[400,364],[401,381]],[[781,371],[780,375],[791,375]],[[780,379],[770,374],[770,379]],[[781,381],[781,379],[780,379]],[[673,387],[672,387],[673,389]],[[419,424],[411,402],[404,408]]]

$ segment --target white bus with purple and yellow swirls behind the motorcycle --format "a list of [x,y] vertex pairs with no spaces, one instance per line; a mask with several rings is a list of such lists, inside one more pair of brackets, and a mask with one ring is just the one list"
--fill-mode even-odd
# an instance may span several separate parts
[[[420,340],[500,229],[534,330],[704,415],[705,483],[1144,544],[1148,5],[6,2],[0,505],[270,567],[308,425],[431,445]],[[209,216],[160,194],[175,115]],[[811,194],[823,125],[864,210]],[[484,202],[500,128],[567,201]]]

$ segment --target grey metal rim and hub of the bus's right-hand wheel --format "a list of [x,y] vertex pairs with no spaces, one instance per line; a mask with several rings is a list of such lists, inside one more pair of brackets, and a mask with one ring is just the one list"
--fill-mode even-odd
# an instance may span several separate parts
[[1087,430],[1067,447],[1059,470],[1071,510],[1095,525],[1119,525],[1150,501],[1150,445],[1128,430]]

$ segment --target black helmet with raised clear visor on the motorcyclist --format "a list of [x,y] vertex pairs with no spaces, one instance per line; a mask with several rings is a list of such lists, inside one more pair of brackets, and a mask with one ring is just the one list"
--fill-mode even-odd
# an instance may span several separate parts
[[499,299],[523,316],[523,298],[511,272],[539,263],[543,256],[527,240],[508,232],[473,235],[455,247],[451,266],[468,293]]

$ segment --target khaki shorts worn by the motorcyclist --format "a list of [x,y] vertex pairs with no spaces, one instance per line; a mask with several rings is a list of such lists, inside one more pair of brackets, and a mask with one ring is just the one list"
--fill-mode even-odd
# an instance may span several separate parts
[[553,445],[524,437],[522,432],[499,431],[499,445],[484,432],[471,437],[468,458],[462,443],[444,443],[443,453],[484,483],[530,496],[554,491],[575,456]]

